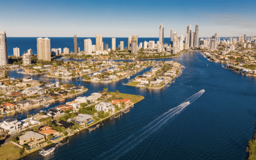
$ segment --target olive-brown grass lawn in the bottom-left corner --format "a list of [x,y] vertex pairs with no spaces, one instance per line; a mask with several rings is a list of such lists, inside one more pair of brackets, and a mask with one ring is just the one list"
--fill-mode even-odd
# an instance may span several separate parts
[[[25,152],[24,152],[25,153]],[[20,147],[10,143],[0,147],[0,160],[17,159],[20,157]]]

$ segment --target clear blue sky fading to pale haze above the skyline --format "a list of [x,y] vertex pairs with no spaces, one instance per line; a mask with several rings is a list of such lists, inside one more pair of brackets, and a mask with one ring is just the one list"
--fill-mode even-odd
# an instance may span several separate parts
[[9,37],[255,36],[256,1],[9,0],[0,1],[0,31]]

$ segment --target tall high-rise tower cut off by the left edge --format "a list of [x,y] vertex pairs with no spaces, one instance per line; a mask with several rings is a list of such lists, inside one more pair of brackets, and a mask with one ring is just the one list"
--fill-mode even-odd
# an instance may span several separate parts
[[0,31],[0,66],[8,64],[6,33]]

